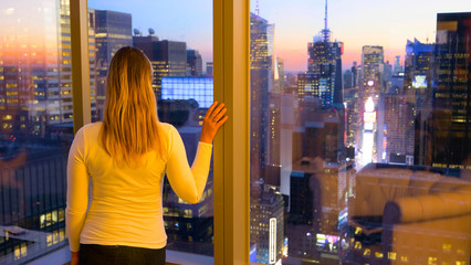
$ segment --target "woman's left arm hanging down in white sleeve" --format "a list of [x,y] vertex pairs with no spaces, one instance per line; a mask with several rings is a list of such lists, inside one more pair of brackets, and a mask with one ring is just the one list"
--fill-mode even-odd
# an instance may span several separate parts
[[85,167],[85,137],[83,128],[75,135],[67,160],[67,208],[65,226],[71,252],[78,252],[80,234],[88,206],[88,173]]

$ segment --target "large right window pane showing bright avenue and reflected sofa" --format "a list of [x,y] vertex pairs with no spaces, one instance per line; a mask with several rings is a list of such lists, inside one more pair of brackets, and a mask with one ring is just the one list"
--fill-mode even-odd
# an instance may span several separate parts
[[252,1],[252,263],[469,263],[470,10]]

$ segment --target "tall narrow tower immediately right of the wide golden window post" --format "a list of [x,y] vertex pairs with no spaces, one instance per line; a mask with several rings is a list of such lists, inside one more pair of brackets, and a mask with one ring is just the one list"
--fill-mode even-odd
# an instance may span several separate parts
[[[250,14],[250,160],[251,183],[261,181],[266,163],[269,129],[269,92],[273,89],[274,24]],[[259,186],[252,186],[252,195],[260,194]],[[257,195],[255,195],[257,197]]]

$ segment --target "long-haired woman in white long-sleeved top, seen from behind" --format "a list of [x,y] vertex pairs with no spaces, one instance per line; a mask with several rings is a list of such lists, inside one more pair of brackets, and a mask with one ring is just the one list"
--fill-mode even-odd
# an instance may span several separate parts
[[72,264],[165,264],[164,173],[189,203],[205,190],[212,139],[227,109],[218,103],[209,108],[190,169],[180,135],[158,120],[151,76],[139,50],[117,51],[106,80],[104,120],[75,135],[67,162]]

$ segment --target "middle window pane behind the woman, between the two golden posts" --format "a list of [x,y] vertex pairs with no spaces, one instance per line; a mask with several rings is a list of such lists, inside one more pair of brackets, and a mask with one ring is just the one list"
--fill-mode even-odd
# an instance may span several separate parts
[[[88,8],[93,28],[90,51],[94,54],[91,80],[95,81],[91,87],[95,88],[92,98],[96,98],[96,106],[92,105],[93,120],[103,120],[106,75],[112,57],[123,46],[137,47],[153,65],[159,119],[178,129],[191,165],[201,120],[213,97],[212,1],[140,1],[135,4],[121,0],[88,0]],[[188,204],[179,199],[166,179],[163,204],[167,250],[212,256],[212,163],[199,203]],[[171,254],[167,253],[167,257],[171,261]],[[206,264],[206,261],[195,262]]]

